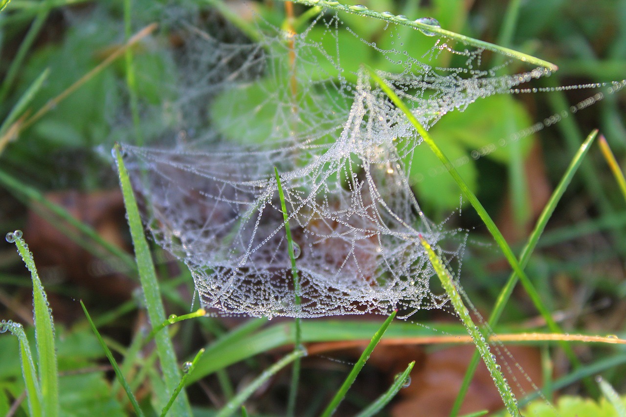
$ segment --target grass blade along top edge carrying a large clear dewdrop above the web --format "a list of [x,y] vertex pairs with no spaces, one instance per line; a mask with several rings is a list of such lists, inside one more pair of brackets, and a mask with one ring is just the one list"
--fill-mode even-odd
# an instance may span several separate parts
[[476,48],[488,49],[489,51],[503,54],[508,58],[519,59],[520,61],[532,65],[542,66],[543,68],[547,68],[551,71],[558,70],[558,66],[556,66],[555,64],[545,61],[543,59],[536,58],[535,56],[521,53],[519,51],[514,51],[513,49],[505,48],[503,46],[495,45],[493,43],[481,41],[480,39],[470,38],[469,36],[465,36],[452,31],[447,31],[446,29],[441,29],[437,26],[431,26],[429,24],[420,23],[419,21],[413,21],[411,19],[403,18],[401,16],[392,16],[387,13],[383,15],[377,11],[369,10],[364,6],[349,6],[347,4],[341,4],[337,1],[326,0],[293,0],[293,2],[304,4],[305,6],[319,6],[331,10],[357,14],[359,16],[366,16],[368,18],[384,20],[389,23],[401,24],[404,26],[408,26],[409,28],[417,29],[419,31],[426,31],[426,33],[436,33],[439,36],[443,36],[444,38],[454,39],[463,44],[475,46]]

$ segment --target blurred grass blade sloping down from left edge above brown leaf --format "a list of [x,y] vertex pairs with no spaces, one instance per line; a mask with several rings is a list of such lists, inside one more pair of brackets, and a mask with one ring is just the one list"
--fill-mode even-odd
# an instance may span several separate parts
[[[0,170],[0,183],[4,185],[4,187],[8,188],[9,191],[13,193],[16,197],[23,199],[26,205],[31,205],[29,203],[36,202],[41,204],[46,209],[50,210],[54,215],[60,217],[65,222],[68,222],[69,225],[76,228],[81,234],[89,237],[93,242],[100,245],[103,249],[109,252],[111,255],[115,256],[116,259],[121,260],[123,264],[128,267],[130,270],[136,270],[137,265],[133,258],[124,252],[122,249],[117,247],[116,245],[107,242],[105,239],[102,239],[100,234],[96,232],[93,227],[88,224],[81,222],[76,219],[68,210],[64,209],[58,204],[55,204],[48,200],[39,190],[36,188],[30,187],[25,183],[19,181],[14,178],[12,175]],[[60,232],[65,233],[66,229],[63,227],[63,224],[59,224],[58,222],[51,222],[52,226],[56,227]],[[91,248],[92,245],[85,245],[85,249],[89,250],[91,253],[101,257],[101,254],[93,251]]]

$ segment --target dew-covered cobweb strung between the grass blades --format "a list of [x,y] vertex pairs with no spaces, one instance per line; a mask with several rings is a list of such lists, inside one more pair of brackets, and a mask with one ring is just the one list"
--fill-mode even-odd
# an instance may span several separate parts
[[168,14],[178,79],[164,86],[175,93],[165,107],[175,123],[161,146],[123,152],[146,225],[187,264],[211,314],[410,316],[446,305],[418,236],[458,278],[466,233],[424,215],[408,178],[412,153],[430,150],[354,61],[380,63],[426,128],[546,70],[496,76],[481,69],[480,49],[417,31],[427,44],[414,56],[401,42],[406,28],[374,21],[389,36],[377,45],[343,19],[322,11],[296,33],[257,16],[244,36],[217,14]]

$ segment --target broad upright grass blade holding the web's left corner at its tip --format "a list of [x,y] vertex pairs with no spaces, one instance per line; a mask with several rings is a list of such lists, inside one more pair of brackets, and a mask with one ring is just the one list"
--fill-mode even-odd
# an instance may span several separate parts
[[[146,301],[146,309],[148,310],[150,323],[152,326],[156,326],[158,323],[165,320],[165,309],[163,308],[163,301],[161,299],[159,285],[156,279],[155,267],[152,261],[150,247],[148,246],[148,242],[146,242],[145,235],[143,234],[143,224],[141,224],[139,208],[137,207],[133,188],[130,183],[128,170],[126,170],[124,160],[121,157],[120,145],[115,145],[114,156],[118,172],[120,174],[120,185],[124,195],[124,204],[126,206],[126,214],[128,215],[128,225],[130,226],[130,234],[133,240],[133,247],[135,248],[137,269],[139,271],[141,287]],[[172,393],[177,388],[178,381],[180,381],[180,372],[178,371],[178,364],[172,340],[167,332],[158,332],[155,335],[155,342],[156,351],[158,352],[158,356],[161,361],[165,386],[168,391]],[[185,394],[184,391],[178,396],[177,401],[173,404],[173,413],[176,416],[192,415],[187,394]]]

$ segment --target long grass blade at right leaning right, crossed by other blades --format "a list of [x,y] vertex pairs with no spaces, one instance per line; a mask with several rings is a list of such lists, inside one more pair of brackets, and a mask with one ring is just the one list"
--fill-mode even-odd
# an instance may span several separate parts
[[[570,165],[567,167],[567,170],[565,170],[563,177],[558,183],[557,188],[555,188],[552,195],[550,195],[550,199],[546,203],[545,207],[543,207],[543,210],[541,210],[541,214],[539,215],[539,218],[537,219],[537,222],[535,224],[535,229],[533,229],[530,237],[528,238],[528,242],[526,242],[526,245],[524,245],[523,249],[521,250],[521,268],[526,267],[526,264],[528,264],[528,260],[530,260],[530,255],[535,250],[537,242],[539,241],[541,234],[543,234],[543,230],[545,230],[545,227],[548,224],[548,220],[550,220],[550,217],[552,217],[552,214],[556,209],[558,202],[561,200],[561,197],[563,197],[563,194],[565,193],[568,185],[570,185],[570,182],[572,182],[574,174],[578,171],[578,167],[580,167],[581,163],[583,162],[585,155],[587,155],[587,152],[591,148],[593,140],[595,140],[597,134],[598,131],[593,130],[591,133],[589,133],[587,139],[585,139],[585,142],[580,145],[580,148],[578,148],[578,151],[575,153],[572,161],[570,162]],[[505,309],[506,302],[513,293],[516,282],[517,275],[514,271],[511,273],[508,281],[506,281],[505,286],[501,289],[500,294],[498,295],[498,299],[496,300],[496,304],[493,307],[493,311],[491,312],[490,317],[487,320],[489,326],[495,326],[498,323],[498,320],[500,320],[500,316]],[[463,379],[463,384],[461,384],[459,393],[457,394],[456,400],[454,401],[454,405],[450,413],[451,416],[458,414],[458,411],[461,408],[461,404],[463,403],[465,394],[469,389],[471,379],[473,378],[476,371],[476,366],[478,366],[478,361],[479,356],[478,353],[475,352],[471,361],[469,362],[468,369]]]

